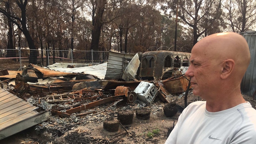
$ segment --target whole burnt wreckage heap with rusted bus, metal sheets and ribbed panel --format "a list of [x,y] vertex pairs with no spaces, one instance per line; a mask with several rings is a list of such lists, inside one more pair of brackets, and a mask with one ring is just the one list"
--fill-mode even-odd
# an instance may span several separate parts
[[[72,64],[74,68],[67,68],[61,63],[48,67],[31,64],[23,71],[8,71],[15,75],[7,72],[0,76],[0,140],[47,121],[51,114],[66,118],[97,115],[117,102],[133,103],[137,98],[147,104],[156,97],[169,103],[166,96],[184,93],[189,87],[184,73],[190,55],[165,50],[135,55],[110,51],[108,62],[97,65]],[[39,94],[29,98],[33,105],[24,101],[27,93]],[[113,103],[103,110],[91,110],[108,102]],[[106,130],[116,130],[107,125],[106,121]]]

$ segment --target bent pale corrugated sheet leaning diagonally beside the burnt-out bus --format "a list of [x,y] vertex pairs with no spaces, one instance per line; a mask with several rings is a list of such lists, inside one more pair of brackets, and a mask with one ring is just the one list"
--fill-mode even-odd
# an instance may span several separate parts
[[124,73],[122,74],[122,79],[126,80],[127,78],[136,78],[137,70],[140,66],[140,59],[138,53],[135,54],[135,56],[132,58],[132,60],[127,65],[126,69],[124,70]]

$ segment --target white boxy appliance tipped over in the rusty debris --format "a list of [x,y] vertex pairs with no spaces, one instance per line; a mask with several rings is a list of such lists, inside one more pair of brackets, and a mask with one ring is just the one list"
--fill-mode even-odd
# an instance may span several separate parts
[[156,98],[158,91],[154,83],[142,81],[133,91],[137,94],[139,100],[150,103]]

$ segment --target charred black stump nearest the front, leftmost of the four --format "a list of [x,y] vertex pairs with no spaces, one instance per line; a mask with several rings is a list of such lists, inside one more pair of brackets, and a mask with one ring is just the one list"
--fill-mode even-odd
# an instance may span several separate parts
[[108,132],[116,132],[119,128],[119,121],[116,118],[109,118],[103,122],[103,128]]

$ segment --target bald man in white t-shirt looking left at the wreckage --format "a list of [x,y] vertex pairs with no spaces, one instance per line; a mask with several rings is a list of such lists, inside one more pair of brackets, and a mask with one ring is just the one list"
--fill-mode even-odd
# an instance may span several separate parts
[[186,76],[193,94],[206,101],[183,110],[165,144],[256,144],[256,110],[240,91],[249,63],[240,34],[217,33],[197,42]]

